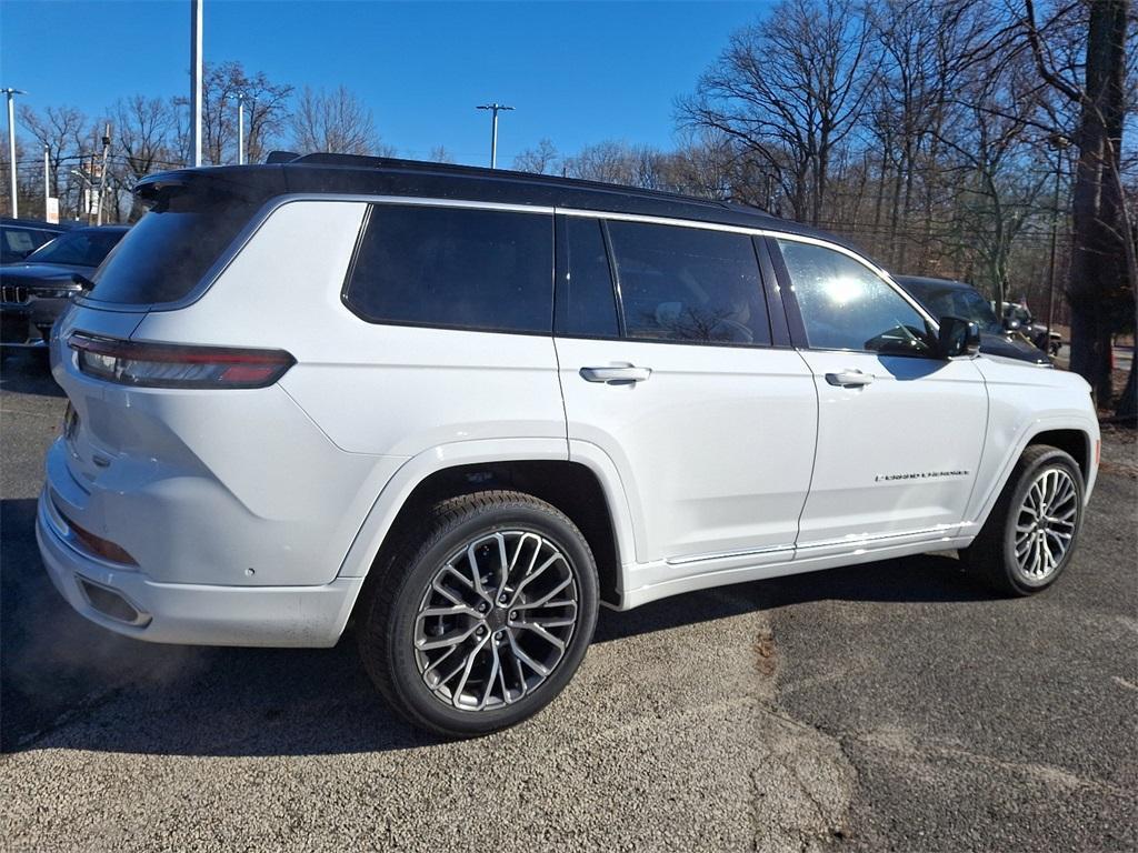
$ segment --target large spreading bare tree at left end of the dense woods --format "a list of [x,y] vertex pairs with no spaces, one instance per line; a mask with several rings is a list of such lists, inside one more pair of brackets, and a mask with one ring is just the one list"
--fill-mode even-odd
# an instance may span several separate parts
[[795,217],[818,223],[831,157],[869,91],[869,51],[853,0],[783,0],[732,34],[679,113],[739,140],[780,177]]

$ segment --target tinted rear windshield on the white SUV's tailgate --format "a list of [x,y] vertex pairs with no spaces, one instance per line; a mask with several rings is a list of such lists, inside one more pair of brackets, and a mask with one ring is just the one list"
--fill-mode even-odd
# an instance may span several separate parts
[[92,276],[91,299],[151,305],[182,299],[249,222],[255,205],[196,193],[162,199]]

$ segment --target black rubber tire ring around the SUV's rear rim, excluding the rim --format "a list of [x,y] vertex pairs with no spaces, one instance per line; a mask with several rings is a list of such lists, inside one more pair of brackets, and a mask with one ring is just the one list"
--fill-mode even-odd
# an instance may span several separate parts
[[[428,586],[447,557],[476,537],[505,529],[526,530],[543,536],[568,557],[577,582],[578,622],[569,647],[553,673],[531,694],[494,711],[459,711],[444,705],[419,674],[413,640],[415,616]],[[469,513],[429,548],[418,554],[395,595],[386,637],[393,687],[417,715],[438,730],[470,736],[488,734],[520,722],[549,704],[577,671],[596,626],[597,586],[596,565],[588,545],[576,527],[559,515],[521,503],[498,504]]]

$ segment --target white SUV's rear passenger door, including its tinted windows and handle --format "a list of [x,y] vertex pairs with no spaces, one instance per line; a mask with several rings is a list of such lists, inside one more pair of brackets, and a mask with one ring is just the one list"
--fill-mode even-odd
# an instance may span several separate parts
[[751,237],[558,218],[570,457],[600,448],[619,472],[637,562],[653,564],[634,583],[789,560],[817,400],[773,336]]

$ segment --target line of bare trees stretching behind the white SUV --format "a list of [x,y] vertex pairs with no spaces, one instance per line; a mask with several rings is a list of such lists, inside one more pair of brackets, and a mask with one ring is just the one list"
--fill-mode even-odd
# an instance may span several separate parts
[[[968,281],[997,305],[1026,299],[1070,323],[1072,367],[1107,405],[1112,338],[1135,328],[1136,27],[1130,0],[782,0],[727,34],[676,99],[674,146],[562,154],[543,139],[513,167],[760,207],[894,272]],[[230,61],[204,78],[207,163],[237,160],[238,94],[247,162],[277,147],[393,154],[349,90],[297,91]],[[142,96],[94,121],[22,108],[25,209],[40,204],[46,149],[52,194],[82,216],[109,123],[108,215],[132,221],[133,183],[188,162],[188,116],[183,98]],[[1131,414],[1133,398],[1131,372]]]

